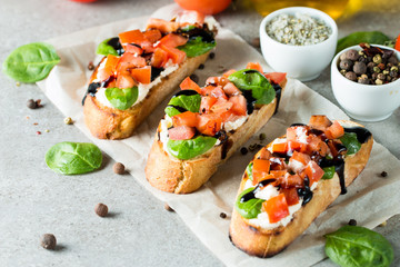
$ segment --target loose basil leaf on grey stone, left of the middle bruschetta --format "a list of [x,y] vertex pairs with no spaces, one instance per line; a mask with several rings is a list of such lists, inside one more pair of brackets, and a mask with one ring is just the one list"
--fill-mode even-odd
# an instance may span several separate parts
[[62,175],[80,175],[100,168],[100,149],[89,142],[59,142],[46,154],[46,164]]

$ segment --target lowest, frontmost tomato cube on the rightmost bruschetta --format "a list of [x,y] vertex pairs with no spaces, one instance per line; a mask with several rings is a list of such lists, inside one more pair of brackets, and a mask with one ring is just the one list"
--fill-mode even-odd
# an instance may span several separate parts
[[279,194],[278,196],[262,202],[262,208],[268,214],[268,218],[271,224],[280,221],[290,214],[284,194]]

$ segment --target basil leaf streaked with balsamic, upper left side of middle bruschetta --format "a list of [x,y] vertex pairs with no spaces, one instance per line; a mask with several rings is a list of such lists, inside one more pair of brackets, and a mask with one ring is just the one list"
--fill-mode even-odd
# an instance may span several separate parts
[[180,95],[178,97],[171,98],[164,111],[169,117],[179,115],[180,111],[172,107],[176,106],[191,112],[199,112],[200,103],[201,103],[201,96],[199,93],[190,95],[190,96]]

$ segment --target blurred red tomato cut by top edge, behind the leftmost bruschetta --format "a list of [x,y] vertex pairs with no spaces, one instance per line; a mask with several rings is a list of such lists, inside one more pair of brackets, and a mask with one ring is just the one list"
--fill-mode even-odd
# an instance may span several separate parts
[[216,14],[228,8],[232,0],[174,0],[182,9]]

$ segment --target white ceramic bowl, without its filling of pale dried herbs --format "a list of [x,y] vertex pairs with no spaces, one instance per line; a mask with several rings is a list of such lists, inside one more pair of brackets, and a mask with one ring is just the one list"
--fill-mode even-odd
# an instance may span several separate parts
[[[322,20],[332,32],[320,43],[310,46],[291,46],[273,40],[267,34],[267,24],[281,13],[306,13]],[[338,42],[338,26],[327,13],[303,7],[284,8],[268,14],[260,24],[260,44],[262,55],[268,65],[276,71],[287,72],[289,77],[301,81],[317,78],[329,66],[334,56]]]

